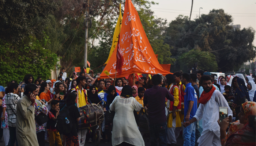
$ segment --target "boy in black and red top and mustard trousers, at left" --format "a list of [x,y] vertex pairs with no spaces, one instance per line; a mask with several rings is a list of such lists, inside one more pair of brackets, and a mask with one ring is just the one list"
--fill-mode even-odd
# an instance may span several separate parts
[[60,114],[60,103],[59,100],[52,100],[51,109],[49,112],[49,121],[47,122],[47,131],[49,134],[50,146],[55,146],[55,141],[57,141],[57,146],[62,146],[62,141],[60,139],[60,133],[56,130],[56,119]]

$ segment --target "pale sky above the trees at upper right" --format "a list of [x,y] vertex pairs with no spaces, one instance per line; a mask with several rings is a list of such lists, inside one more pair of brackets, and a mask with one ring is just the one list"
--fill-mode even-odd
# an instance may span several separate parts
[[[190,15],[192,0],[150,0],[158,3],[151,5],[151,10],[157,18],[175,20],[182,14]],[[232,15],[233,24],[240,24],[242,28],[252,27],[256,30],[256,1],[255,0],[194,0],[191,20],[200,15],[208,14],[212,9],[224,9],[225,13]],[[256,46],[256,38],[253,45]]]

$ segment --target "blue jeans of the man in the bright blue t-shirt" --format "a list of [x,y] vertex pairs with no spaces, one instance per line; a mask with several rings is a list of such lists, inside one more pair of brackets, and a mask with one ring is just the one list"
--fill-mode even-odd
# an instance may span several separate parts
[[183,130],[183,146],[195,146],[196,123],[193,122]]

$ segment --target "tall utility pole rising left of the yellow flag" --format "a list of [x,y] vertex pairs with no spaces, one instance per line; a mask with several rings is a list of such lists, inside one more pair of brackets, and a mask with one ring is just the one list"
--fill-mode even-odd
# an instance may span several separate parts
[[87,0],[87,10],[85,21],[85,42],[84,42],[84,68],[87,68],[87,47],[88,47],[88,19],[89,19],[89,0]]

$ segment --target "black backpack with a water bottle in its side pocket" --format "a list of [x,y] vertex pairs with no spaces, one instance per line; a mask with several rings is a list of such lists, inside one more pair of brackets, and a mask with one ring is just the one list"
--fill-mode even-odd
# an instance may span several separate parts
[[[71,132],[73,126],[72,120],[69,116],[69,108],[71,106],[73,105],[69,105],[68,107],[65,105],[56,119],[56,129],[58,132],[60,132],[60,135],[69,134]],[[66,123],[65,118],[69,120],[68,124]]]

